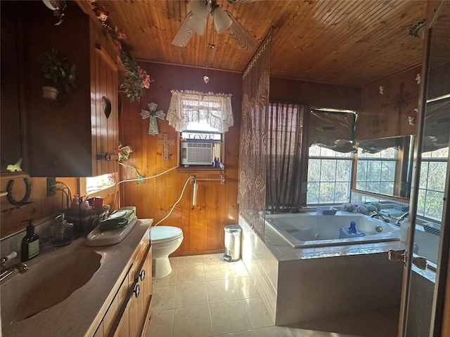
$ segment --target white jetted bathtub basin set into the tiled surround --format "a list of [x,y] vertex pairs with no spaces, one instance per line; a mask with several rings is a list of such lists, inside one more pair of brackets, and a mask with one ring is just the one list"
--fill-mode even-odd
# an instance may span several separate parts
[[[339,239],[340,227],[356,223],[356,230],[364,237]],[[311,246],[338,246],[399,240],[400,227],[361,213],[338,211],[334,216],[316,212],[266,215],[266,225],[271,227],[293,248]]]

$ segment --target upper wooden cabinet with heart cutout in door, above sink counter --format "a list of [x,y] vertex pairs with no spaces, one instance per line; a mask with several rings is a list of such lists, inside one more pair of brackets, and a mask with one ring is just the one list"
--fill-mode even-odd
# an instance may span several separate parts
[[[21,34],[16,50],[2,41],[2,58],[16,53],[18,78],[23,79],[24,169],[30,176],[58,177],[118,171],[118,58],[105,29],[72,1],[60,25],[41,1],[15,1],[13,6]],[[77,88],[60,93],[56,101],[44,99],[41,88],[47,85],[41,72],[44,54],[52,48],[77,66]],[[107,153],[110,161],[104,159]]]

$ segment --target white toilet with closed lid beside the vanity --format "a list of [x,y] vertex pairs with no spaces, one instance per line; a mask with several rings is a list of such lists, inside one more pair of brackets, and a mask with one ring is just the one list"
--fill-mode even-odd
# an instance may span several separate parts
[[152,244],[152,279],[161,279],[172,272],[169,254],[183,242],[183,231],[178,227],[156,226],[150,228]]

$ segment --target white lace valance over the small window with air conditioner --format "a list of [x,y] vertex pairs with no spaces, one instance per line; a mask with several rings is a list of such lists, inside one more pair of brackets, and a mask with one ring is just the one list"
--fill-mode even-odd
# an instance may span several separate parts
[[226,132],[233,126],[231,94],[200,93],[199,91],[172,90],[166,119],[176,131],[186,130],[191,121],[206,121],[219,132]]

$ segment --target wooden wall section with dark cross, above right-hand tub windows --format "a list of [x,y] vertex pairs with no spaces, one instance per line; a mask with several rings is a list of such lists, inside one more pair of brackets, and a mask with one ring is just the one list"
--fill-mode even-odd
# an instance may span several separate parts
[[[420,67],[376,81],[364,87],[363,108],[356,119],[356,139],[407,136],[416,133]],[[380,86],[383,94],[380,93]]]

